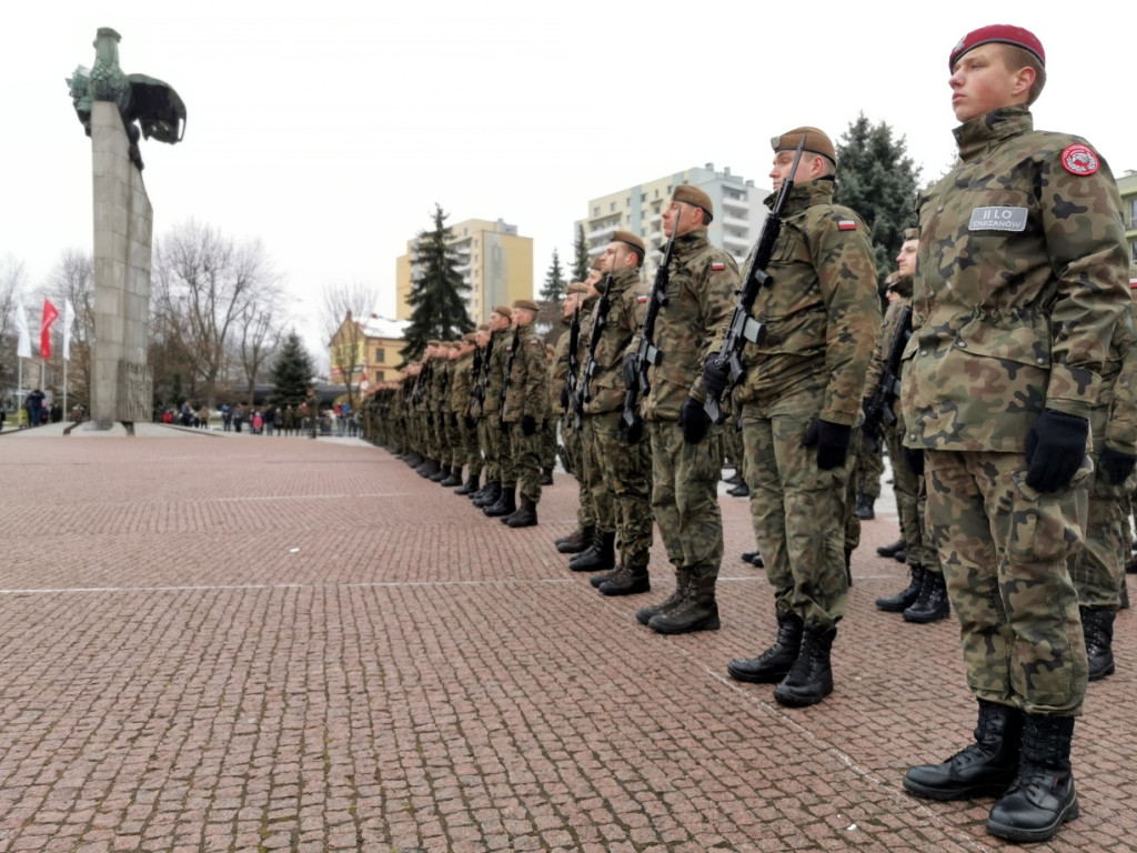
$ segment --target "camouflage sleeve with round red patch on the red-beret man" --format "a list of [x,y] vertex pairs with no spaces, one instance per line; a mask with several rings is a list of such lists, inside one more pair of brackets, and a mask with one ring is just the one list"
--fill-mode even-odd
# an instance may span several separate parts
[[1109,167],[1102,162],[1092,174],[1073,174],[1062,160],[1057,154],[1045,158],[1035,183],[1057,279],[1046,407],[1085,417],[1097,396],[1113,324],[1129,301],[1129,257]]

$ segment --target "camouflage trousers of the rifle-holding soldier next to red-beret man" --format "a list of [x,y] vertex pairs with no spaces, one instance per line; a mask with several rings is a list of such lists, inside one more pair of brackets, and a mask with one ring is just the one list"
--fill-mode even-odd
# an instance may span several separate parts
[[822,471],[818,449],[802,446],[821,398],[810,389],[769,404],[745,404],[742,444],[750,519],[774,605],[824,631],[848,604],[845,546],[855,455],[850,448],[844,467]]

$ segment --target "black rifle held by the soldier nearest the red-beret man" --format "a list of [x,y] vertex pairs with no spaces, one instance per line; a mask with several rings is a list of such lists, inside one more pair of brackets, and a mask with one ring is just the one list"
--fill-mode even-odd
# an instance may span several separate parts
[[786,208],[790,190],[794,189],[794,175],[797,173],[798,163],[802,162],[805,139],[806,134],[803,133],[802,141],[797,143],[797,151],[794,154],[794,165],[790,167],[789,175],[782,181],[782,185],[778,190],[778,198],[774,199],[773,209],[762,224],[762,233],[758,234],[758,241],[754,245],[750,265],[746,268],[746,278],[742,279],[742,287],[738,291],[735,313],[731,314],[730,325],[727,326],[727,338],[723,340],[722,347],[719,348],[719,355],[715,356],[715,366],[720,368],[725,366],[729,370],[727,387],[722,390],[722,395],[712,394],[708,389],[706,403],[703,404],[704,411],[714,423],[722,423],[722,398],[730,394],[730,389],[738,384],[746,372],[742,366],[742,349],[746,347],[746,342],[750,341],[757,345],[765,337],[765,324],[756,321],[750,315],[750,310],[754,308],[758,290],[770,281],[766,267],[770,265],[774,243],[778,242],[778,235],[781,233],[781,214]]

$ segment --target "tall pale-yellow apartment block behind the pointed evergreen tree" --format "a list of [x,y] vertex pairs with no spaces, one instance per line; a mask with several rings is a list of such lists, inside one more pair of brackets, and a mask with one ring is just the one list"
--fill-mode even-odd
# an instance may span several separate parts
[[[457,270],[470,285],[466,307],[475,323],[489,320],[495,305],[513,305],[515,299],[533,298],[533,239],[517,234],[516,225],[504,220],[466,220],[450,225],[450,248]],[[399,320],[410,318],[410,285],[418,274],[415,247],[418,238],[407,241],[407,254],[395,262],[395,304]]]

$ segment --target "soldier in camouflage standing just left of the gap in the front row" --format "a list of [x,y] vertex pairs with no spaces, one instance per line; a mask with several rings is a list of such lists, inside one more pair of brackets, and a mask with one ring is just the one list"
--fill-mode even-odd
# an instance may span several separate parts
[[[521,491],[521,506],[501,519],[501,523],[512,528],[536,524],[537,505],[541,500],[541,423],[549,408],[549,367],[545,345],[533,329],[538,310],[532,299],[517,299],[513,304],[513,351],[506,362],[509,374],[501,406]],[[512,488],[512,483],[503,480],[503,494]]]

